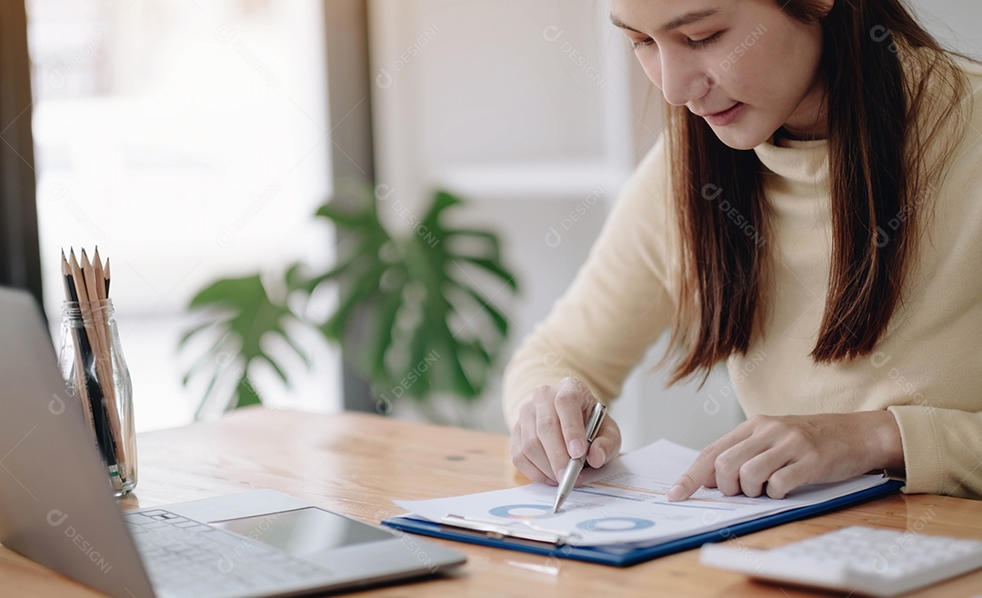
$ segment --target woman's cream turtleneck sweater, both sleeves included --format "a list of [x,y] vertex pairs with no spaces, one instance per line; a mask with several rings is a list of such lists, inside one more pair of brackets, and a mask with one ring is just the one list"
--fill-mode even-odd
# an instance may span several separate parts
[[[944,185],[925,203],[902,304],[872,355],[816,365],[831,259],[826,141],[756,148],[766,167],[774,259],[763,333],[728,360],[747,416],[889,409],[900,426],[907,493],[982,497],[982,69],[966,66],[972,103]],[[533,389],[567,375],[609,402],[671,326],[678,263],[664,143],[628,182],[566,295],[524,340],[505,374],[514,425]],[[728,209],[726,196],[714,199]],[[928,215],[933,209],[933,215]],[[890,228],[885,227],[889,234]]]

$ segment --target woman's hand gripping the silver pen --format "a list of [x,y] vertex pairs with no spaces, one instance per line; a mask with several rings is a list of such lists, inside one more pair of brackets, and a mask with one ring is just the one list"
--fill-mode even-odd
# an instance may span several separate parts
[[[586,420],[597,399],[583,382],[564,378],[541,386],[525,402],[512,430],[512,462],[530,480],[553,486],[571,459],[586,452]],[[621,430],[608,415],[589,445],[586,464],[598,468],[621,452]],[[578,486],[582,478],[576,480]]]

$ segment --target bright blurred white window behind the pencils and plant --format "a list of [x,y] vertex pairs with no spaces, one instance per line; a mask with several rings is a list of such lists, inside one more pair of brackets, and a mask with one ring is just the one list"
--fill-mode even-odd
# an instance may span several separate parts
[[[311,218],[331,181],[322,4],[28,0],[27,16],[48,312],[60,249],[98,245],[137,429],[187,423],[203,393],[182,387],[192,355],[176,349],[193,293],[332,257]],[[318,368],[297,401],[336,408],[335,374]]]

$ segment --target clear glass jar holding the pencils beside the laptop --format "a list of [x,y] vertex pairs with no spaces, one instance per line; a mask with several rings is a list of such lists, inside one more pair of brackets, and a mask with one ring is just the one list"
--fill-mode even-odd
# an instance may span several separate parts
[[78,398],[116,496],[136,488],[133,383],[112,299],[65,301],[58,362]]

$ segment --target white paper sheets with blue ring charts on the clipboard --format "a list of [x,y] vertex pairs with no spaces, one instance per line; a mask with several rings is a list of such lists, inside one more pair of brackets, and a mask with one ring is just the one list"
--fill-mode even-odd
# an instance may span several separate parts
[[696,456],[696,451],[659,440],[601,469],[584,469],[584,485],[573,489],[555,515],[556,488],[545,484],[396,504],[431,521],[455,515],[566,534],[578,546],[650,545],[822,503],[886,481],[883,475],[861,475],[802,486],[784,499],[725,496],[702,488],[687,501],[670,503],[665,494]]

